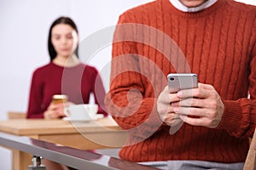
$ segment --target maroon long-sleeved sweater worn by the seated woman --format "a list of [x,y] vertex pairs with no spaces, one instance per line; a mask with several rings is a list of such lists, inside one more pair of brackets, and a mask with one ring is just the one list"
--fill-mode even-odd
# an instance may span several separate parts
[[54,94],[67,94],[74,104],[88,104],[90,93],[100,106],[98,112],[107,116],[102,109],[105,89],[96,68],[84,64],[65,68],[50,62],[32,75],[27,118],[43,118]]

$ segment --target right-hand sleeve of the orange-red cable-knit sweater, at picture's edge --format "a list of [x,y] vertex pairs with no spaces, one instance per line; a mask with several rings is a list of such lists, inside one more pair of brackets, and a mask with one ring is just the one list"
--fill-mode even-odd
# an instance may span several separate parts
[[[254,29],[255,30],[255,29]],[[255,31],[254,31],[255,32]],[[254,33],[255,37],[255,33]],[[224,116],[218,128],[236,137],[252,137],[256,124],[256,42],[250,61],[249,99],[224,100]]]

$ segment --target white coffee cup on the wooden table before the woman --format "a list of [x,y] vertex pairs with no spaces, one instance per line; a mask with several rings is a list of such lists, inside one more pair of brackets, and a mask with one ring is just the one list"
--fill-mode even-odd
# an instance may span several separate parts
[[68,105],[64,114],[70,121],[91,121],[96,119],[97,111],[95,104]]

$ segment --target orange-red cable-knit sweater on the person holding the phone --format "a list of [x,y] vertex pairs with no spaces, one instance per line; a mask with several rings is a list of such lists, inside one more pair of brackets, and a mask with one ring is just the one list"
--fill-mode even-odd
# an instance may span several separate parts
[[[232,0],[218,0],[195,13],[158,0],[120,15],[105,99],[129,134],[119,156],[130,161],[245,161],[256,122],[255,40],[256,8]],[[156,100],[171,72],[196,73],[199,82],[218,91],[225,109],[217,128],[183,123],[169,134]]]

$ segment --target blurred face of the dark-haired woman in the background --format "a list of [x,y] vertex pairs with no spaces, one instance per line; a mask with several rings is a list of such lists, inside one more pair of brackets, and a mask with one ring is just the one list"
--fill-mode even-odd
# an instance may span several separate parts
[[73,54],[75,48],[77,48],[79,37],[72,26],[58,24],[52,28],[51,42],[57,56],[67,58],[70,54]]

